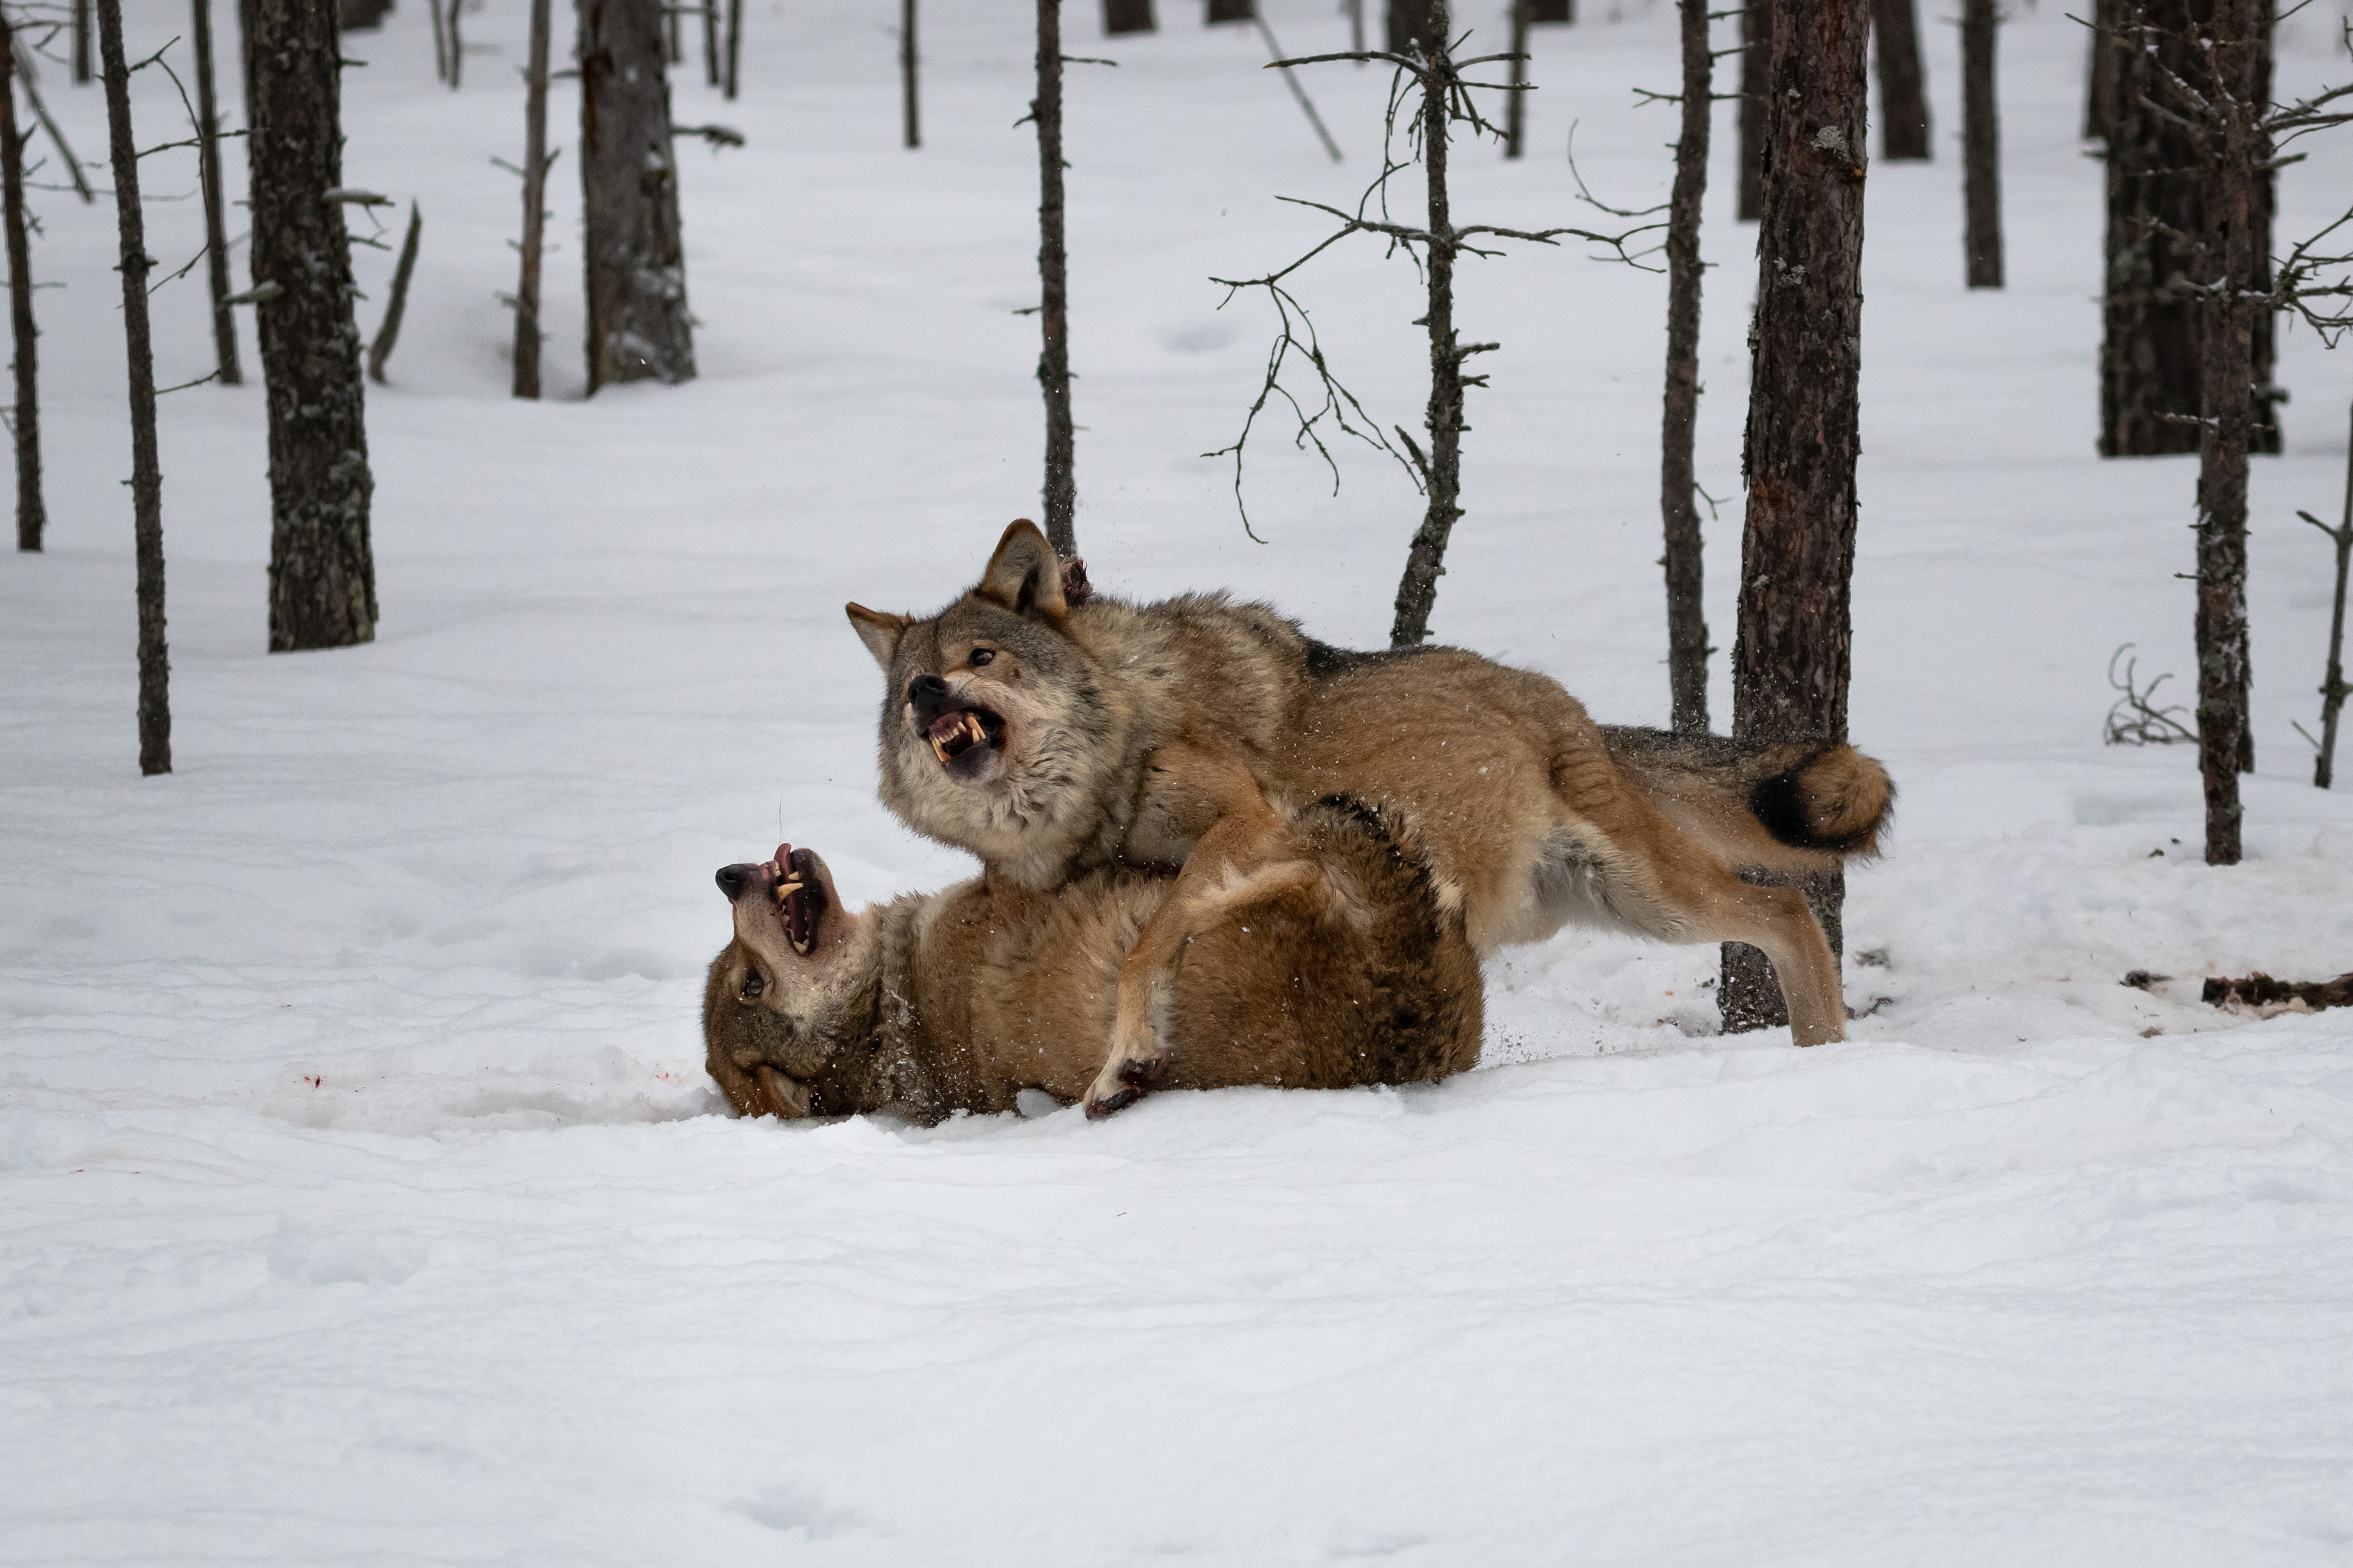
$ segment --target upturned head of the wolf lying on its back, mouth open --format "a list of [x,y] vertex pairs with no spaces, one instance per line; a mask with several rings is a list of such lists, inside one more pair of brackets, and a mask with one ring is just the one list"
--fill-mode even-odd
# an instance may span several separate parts
[[744,1117],[812,1117],[828,1105],[828,1067],[873,1025],[871,917],[852,914],[809,849],[776,846],[760,865],[720,867],[734,940],[704,985],[711,1077]]

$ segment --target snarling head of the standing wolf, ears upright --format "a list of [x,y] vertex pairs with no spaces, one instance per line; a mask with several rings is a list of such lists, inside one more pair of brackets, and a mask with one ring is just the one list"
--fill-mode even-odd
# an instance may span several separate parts
[[1071,635],[1064,571],[1024,520],[979,585],[927,621],[847,607],[882,665],[882,804],[1021,882],[1085,842],[1120,762],[1120,717]]

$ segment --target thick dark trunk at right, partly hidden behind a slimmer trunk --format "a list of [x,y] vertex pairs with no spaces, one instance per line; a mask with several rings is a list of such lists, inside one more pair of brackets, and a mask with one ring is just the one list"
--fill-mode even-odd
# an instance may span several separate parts
[[[2188,125],[2165,101],[2162,71],[2198,80],[2205,71],[2193,35],[2212,0],[2113,0],[2125,42],[2115,49],[2115,125],[2108,136],[2108,282],[2101,303],[2099,454],[2108,458],[2198,451],[2200,388],[2195,303],[2177,282],[2193,268],[2202,233],[2198,150]],[[2151,59],[2153,56],[2153,59]],[[2259,174],[2257,273],[2271,275],[2271,188]],[[2249,449],[2278,451],[2271,402],[2271,313],[2254,327]]]

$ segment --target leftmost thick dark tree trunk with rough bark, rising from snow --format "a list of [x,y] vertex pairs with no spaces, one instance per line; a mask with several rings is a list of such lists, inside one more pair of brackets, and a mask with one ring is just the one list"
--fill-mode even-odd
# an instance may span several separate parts
[[[113,0],[104,0],[113,2]],[[367,390],[353,320],[334,12],[252,0],[254,287],[271,404],[271,651],[376,637]]]

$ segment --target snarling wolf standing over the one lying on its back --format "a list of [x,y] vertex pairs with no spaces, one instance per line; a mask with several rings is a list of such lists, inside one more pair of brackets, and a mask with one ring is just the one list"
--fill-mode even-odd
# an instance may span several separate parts
[[882,802],[908,827],[1026,889],[1181,867],[1120,969],[1089,1114],[1167,1067],[1186,940],[1268,860],[1285,804],[1325,795],[1414,823],[1482,957],[1565,924],[1753,943],[1793,1039],[1845,1037],[1805,896],[1741,872],[1878,851],[1894,790],[1852,745],[1602,729],[1551,677],[1445,646],[1348,654],[1224,595],[1071,604],[1031,522],[927,621],[847,611],[885,672]]

